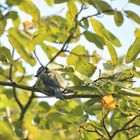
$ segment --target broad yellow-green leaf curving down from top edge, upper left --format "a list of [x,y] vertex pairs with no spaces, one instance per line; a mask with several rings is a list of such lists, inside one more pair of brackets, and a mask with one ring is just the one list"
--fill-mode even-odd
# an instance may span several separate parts
[[22,0],[18,6],[22,11],[32,16],[34,22],[38,23],[40,12],[31,0]]

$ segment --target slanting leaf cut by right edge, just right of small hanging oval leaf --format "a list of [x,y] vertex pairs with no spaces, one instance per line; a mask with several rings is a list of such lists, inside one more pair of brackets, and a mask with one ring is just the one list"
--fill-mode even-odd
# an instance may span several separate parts
[[128,18],[131,18],[133,21],[140,24],[140,17],[135,12],[130,10],[125,10],[124,12],[127,14]]

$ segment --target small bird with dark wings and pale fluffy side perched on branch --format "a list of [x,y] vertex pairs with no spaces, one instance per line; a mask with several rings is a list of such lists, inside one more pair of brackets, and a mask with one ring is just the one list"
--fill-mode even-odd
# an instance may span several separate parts
[[35,87],[43,93],[49,95],[55,94],[55,97],[63,100],[60,87],[63,85],[62,76],[54,70],[40,67],[37,71],[36,77],[38,78]]

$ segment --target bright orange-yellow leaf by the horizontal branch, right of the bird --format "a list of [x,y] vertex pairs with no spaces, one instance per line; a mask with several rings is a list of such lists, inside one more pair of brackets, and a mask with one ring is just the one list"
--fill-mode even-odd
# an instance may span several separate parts
[[112,110],[116,108],[116,101],[113,98],[112,95],[105,95],[102,98],[102,106],[106,109],[106,110]]

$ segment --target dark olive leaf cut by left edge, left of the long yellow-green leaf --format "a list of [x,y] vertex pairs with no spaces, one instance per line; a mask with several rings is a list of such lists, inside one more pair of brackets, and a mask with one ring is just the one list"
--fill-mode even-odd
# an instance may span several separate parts
[[8,59],[10,63],[14,63],[10,50],[4,46],[0,47],[0,60],[5,61],[6,59]]

